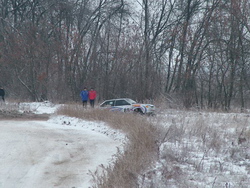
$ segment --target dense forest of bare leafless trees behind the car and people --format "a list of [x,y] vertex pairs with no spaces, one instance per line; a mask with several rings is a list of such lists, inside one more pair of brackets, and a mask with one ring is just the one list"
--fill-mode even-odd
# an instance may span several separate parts
[[9,98],[178,99],[242,111],[249,0],[0,0],[0,86]]

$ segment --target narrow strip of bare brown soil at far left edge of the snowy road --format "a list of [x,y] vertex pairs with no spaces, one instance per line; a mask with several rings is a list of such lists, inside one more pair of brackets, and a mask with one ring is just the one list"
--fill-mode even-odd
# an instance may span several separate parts
[[25,119],[25,120],[48,120],[49,114],[34,114],[32,112],[20,113],[16,110],[0,110],[0,120]]

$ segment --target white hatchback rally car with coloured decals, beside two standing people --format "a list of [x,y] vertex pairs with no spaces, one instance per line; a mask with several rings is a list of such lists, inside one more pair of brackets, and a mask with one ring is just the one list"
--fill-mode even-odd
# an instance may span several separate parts
[[101,108],[110,111],[138,112],[140,114],[154,114],[155,106],[152,104],[140,104],[129,98],[110,99],[100,104]]

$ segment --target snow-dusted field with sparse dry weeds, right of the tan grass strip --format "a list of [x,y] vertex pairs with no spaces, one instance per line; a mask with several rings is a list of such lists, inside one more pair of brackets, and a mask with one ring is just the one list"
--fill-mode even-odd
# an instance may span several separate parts
[[[250,188],[250,115],[168,109],[145,187]],[[159,126],[158,124],[158,126]]]

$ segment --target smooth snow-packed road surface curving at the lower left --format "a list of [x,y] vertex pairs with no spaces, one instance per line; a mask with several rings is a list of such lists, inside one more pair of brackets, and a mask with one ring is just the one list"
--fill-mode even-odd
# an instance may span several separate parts
[[47,121],[0,121],[0,188],[87,188],[120,142]]

